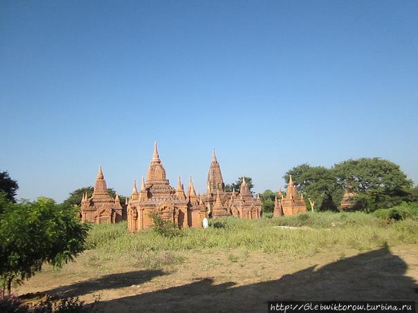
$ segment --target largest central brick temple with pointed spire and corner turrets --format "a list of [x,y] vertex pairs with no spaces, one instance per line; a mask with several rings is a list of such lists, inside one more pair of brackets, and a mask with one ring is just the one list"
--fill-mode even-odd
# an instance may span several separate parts
[[201,220],[206,216],[206,206],[197,197],[192,180],[187,196],[180,178],[177,189],[170,186],[156,143],[147,180],[142,179],[139,192],[134,182],[127,205],[128,230],[137,232],[152,227],[153,212],[159,214],[163,220],[174,222],[179,228],[200,227]]

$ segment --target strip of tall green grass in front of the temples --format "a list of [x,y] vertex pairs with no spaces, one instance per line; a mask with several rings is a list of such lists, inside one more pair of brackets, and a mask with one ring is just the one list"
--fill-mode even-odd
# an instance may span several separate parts
[[258,220],[223,218],[211,220],[208,229],[183,229],[172,238],[158,235],[152,229],[130,234],[126,222],[120,222],[93,225],[87,238],[89,249],[97,250],[101,260],[125,258],[145,267],[179,263],[182,259],[176,252],[190,249],[243,248],[300,258],[323,249],[368,250],[403,243],[418,243],[418,220],[391,222],[361,212],[307,212]]

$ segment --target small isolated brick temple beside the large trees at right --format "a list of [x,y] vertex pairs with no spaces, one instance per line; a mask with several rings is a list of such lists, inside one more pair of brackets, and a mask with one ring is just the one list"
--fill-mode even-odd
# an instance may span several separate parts
[[287,185],[286,195],[279,190],[279,197],[275,198],[275,205],[273,216],[282,216],[282,215],[296,215],[302,212],[307,211],[307,206],[305,204],[305,199],[303,198],[303,193],[299,197],[298,189],[293,184],[293,178],[290,176],[289,184]]

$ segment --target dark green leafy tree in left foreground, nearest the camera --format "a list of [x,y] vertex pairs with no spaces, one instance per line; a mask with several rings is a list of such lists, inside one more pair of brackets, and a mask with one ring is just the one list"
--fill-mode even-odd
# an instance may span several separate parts
[[0,216],[0,283],[8,294],[12,281],[21,283],[44,263],[60,267],[84,250],[88,226],[75,209],[63,209],[50,198],[4,205]]

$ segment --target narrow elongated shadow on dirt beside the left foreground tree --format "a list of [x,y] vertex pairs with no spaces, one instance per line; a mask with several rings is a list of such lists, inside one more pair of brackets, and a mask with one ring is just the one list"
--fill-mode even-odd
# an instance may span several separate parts
[[151,281],[156,276],[162,276],[166,273],[160,269],[143,270],[118,274],[109,274],[100,276],[96,279],[92,278],[88,281],[80,281],[71,285],[65,285],[46,290],[42,293],[57,294],[58,296],[81,296],[91,292],[99,292],[100,290],[111,290],[131,285],[140,285]]

